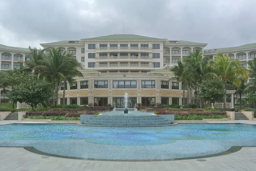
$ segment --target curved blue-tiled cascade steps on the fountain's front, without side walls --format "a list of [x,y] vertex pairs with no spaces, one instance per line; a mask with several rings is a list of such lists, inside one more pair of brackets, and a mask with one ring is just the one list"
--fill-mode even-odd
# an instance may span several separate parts
[[135,126],[165,126],[171,125],[162,116],[92,116],[85,125],[90,126],[116,126],[116,127],[135,127]]

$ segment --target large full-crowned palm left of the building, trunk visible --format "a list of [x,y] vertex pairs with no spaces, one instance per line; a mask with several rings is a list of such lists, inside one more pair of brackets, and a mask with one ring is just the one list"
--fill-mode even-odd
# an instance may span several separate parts
[[[43,58],[38,60],[38,66],[34,67],[34,71],[39,72],[39,77],[45,77],[52,81],[54,86],[54,106],[57,105],[59,85],[62,80],[66,80],[67,73],[79,73],[76,68],[82,65],[73,57],[69,52],[61,52],[61,49],[51,49],[49,53]],[[71,74],[71,75],[72,75]],[[69,74],[68,74],[69,75]],[[64,81],[65,82],[65,81]]]

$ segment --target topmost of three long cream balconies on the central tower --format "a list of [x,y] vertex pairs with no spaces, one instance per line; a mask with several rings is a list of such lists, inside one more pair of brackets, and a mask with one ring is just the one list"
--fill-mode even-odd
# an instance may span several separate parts
[[141,51],[141,52],[152,52],[152,47],[97,47],[96,52],[134,52],[134,51]]

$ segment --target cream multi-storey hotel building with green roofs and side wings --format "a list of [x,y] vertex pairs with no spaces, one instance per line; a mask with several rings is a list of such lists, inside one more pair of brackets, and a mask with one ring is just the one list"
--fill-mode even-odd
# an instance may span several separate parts
[[[207,43],[169,41],[140,35],[108,35],[42,43],[41,46],[46,53],[53,47],[73,53],[84,66],[80,70],[84,78],[76,78],[72,86],[68,84],[65,87],[65,103],[95,106],[115,104],[116,107],[123,107],[125,92],[130,97],[129,107],[134,107],[136,103],[143,106],[183,104],[183,86],[180,82],[170,81],[174,75],[169,68],[196,49],[209,58],[215,58],[217,52],[229,53],[230,59],[239,59],[243,66],[256,57],[256,43],[207,50],[204,49]],[[20,61],[30,59],[25,48],[0,45],[0,54],[1,70],[17,67],[18,56]],[[60,97],[63,89],[62,84]],[[63,98],[59,98],[58,103],[62,101]]]

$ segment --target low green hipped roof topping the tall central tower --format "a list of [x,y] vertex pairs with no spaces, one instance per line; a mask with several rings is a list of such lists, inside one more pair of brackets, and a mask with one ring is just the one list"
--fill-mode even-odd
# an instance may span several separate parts
[[151,38],[146,36],[140,36],[140,35],[107,35],[107,36],[100,36],[96,38],[86,38],[86,39],[159,39],[159,38]]

